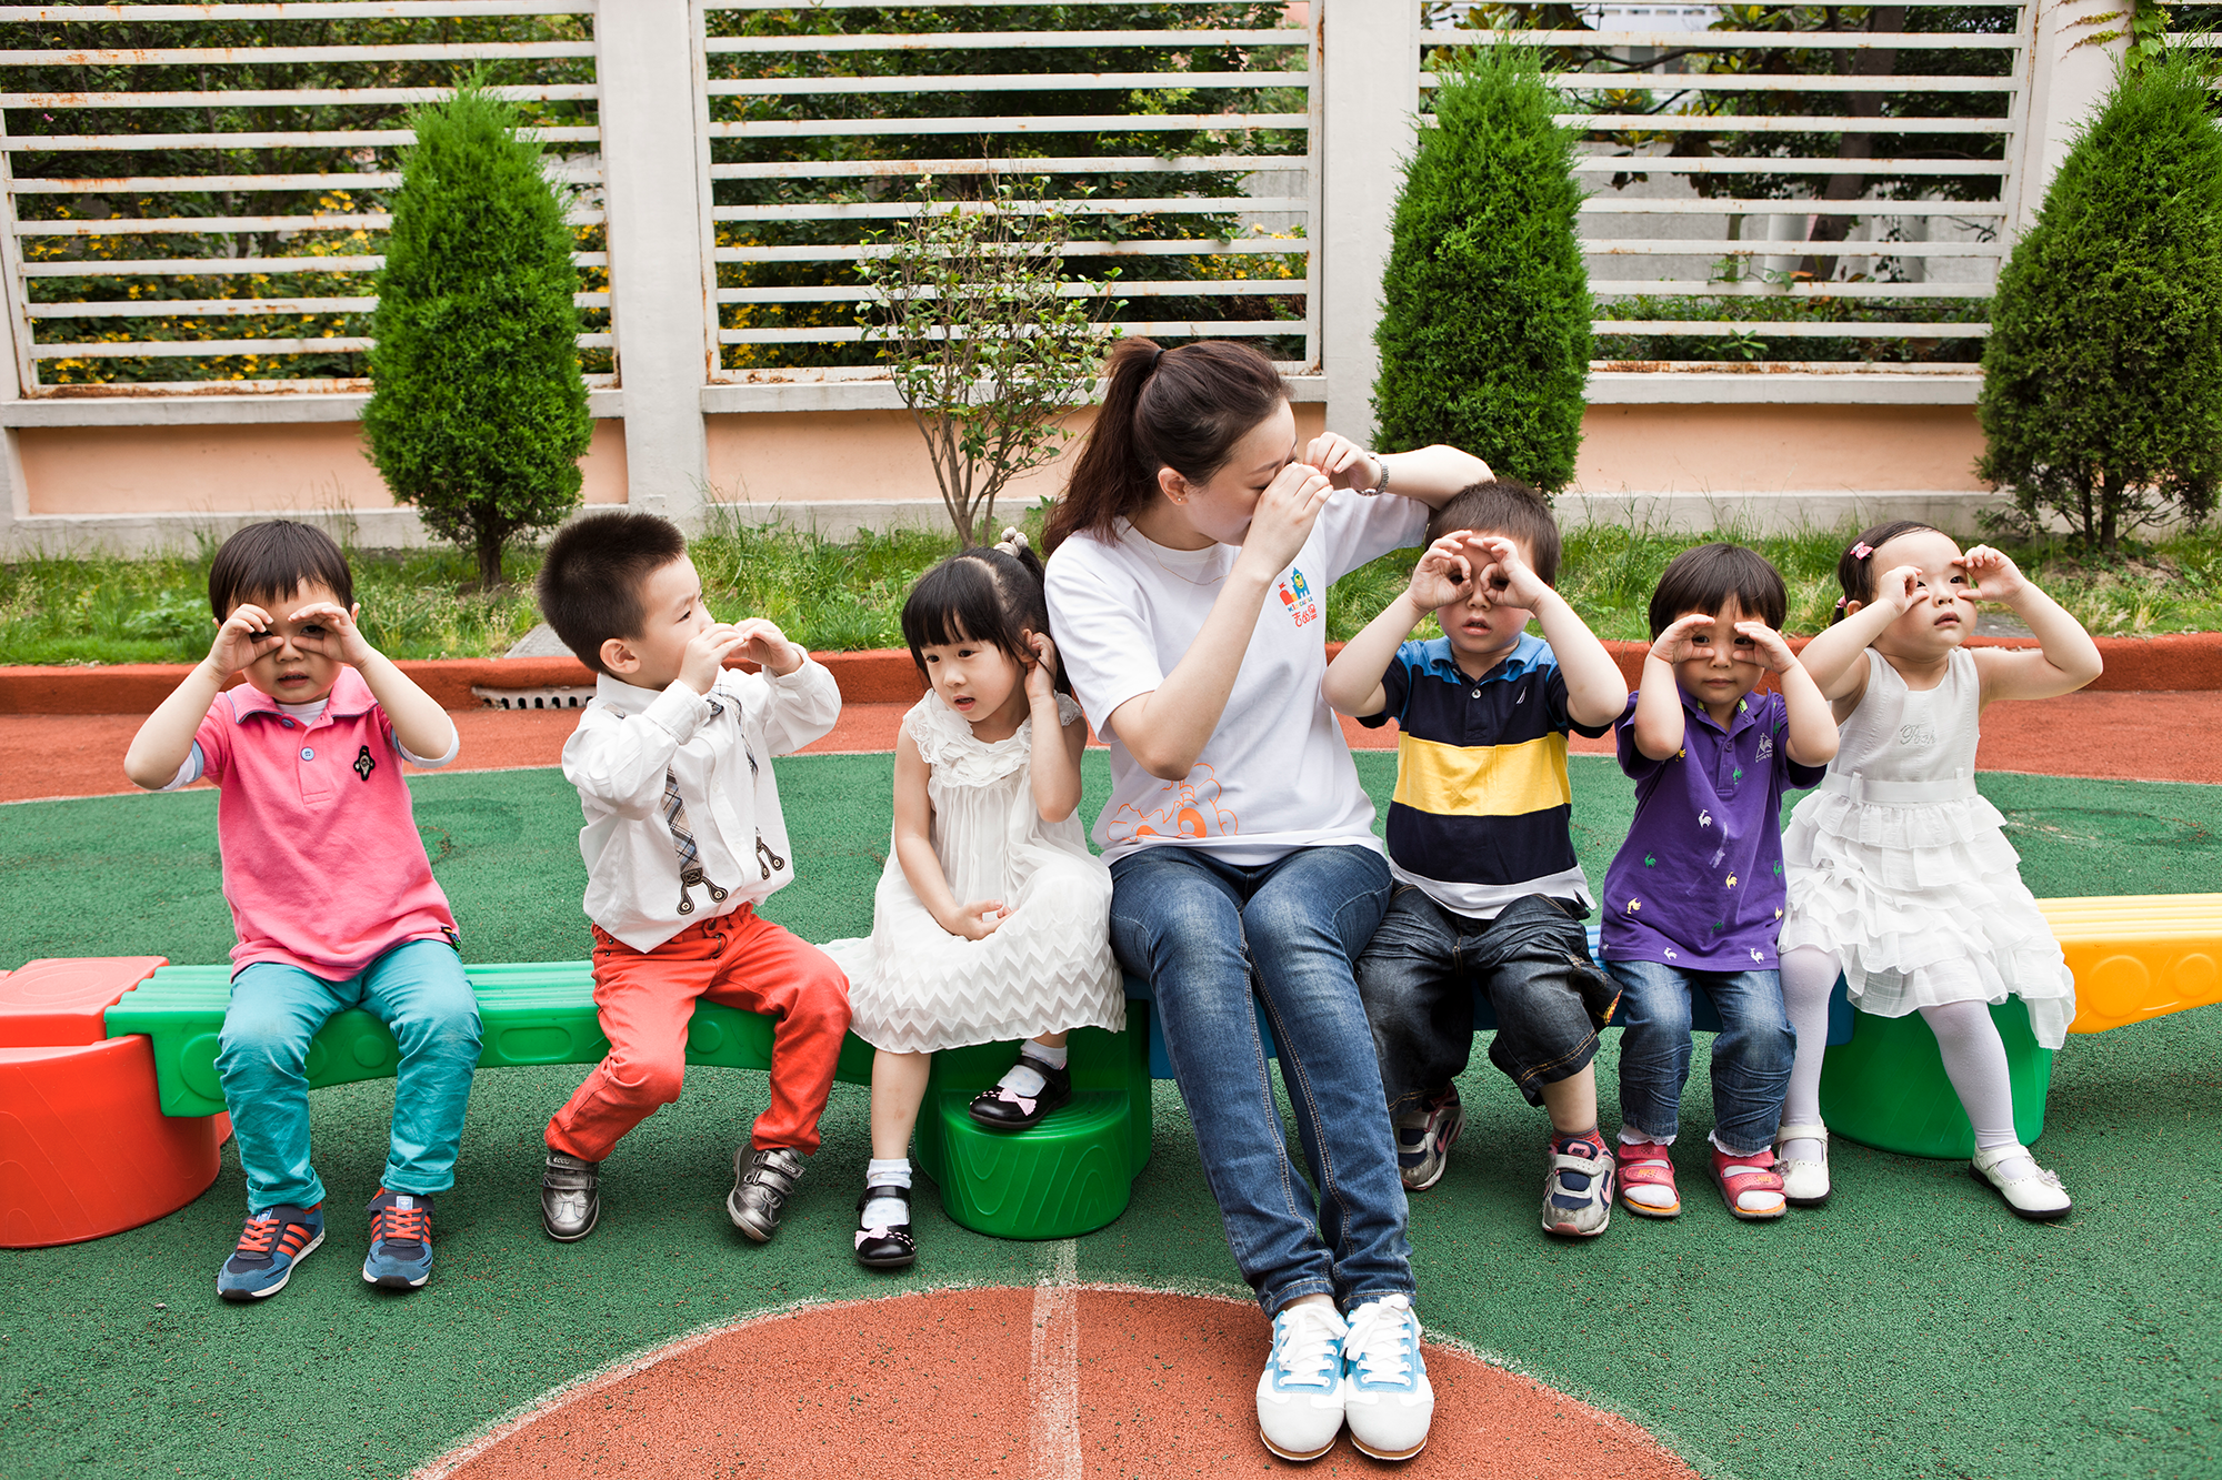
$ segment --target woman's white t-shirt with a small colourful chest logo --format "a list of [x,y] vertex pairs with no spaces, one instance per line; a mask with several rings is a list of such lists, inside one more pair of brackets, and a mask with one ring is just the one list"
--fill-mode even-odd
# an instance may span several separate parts
[[1082,533],[1058,547],[1049,558],[1049,629],[1080,707],[1111,747],[1111,802],[1093,833],[1104,860],[1198,847],[1253,867],[1302,847],[1382,847],[1373,798],[1320,698],[1327,589],[1378,556],[1420,544],[1424,531],[1427,504],[1418,500],[1329,496],[1304,549],[1267,593],[1218,729],[1178,782],[1144,771],[1111,716],[1160,689],[1189,653],[1240,547],[1167,549],[1127,520],[1115,540]]

